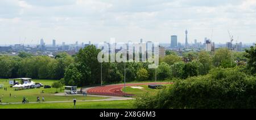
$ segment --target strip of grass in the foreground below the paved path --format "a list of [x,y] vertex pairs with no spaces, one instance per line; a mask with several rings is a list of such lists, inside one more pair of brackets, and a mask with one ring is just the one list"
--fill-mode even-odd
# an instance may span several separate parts
[[[130,100],[124,101],[90,101],[77,102],[76,109],[127,109]],[[73,109],[72,102],[38,103],[38,104],[9,104],[0,105],[0,109]]]

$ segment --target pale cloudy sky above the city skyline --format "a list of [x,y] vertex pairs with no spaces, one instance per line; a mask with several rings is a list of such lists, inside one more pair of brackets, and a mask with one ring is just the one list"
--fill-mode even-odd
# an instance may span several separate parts
[[1,0],[0,45],[256,42],[256,0]]

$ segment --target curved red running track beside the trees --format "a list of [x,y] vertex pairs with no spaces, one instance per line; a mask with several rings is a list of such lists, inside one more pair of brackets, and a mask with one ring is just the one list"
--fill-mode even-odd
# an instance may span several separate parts
[[[149,84],[172,84],[172,83],[129,83],[127,86],[136,85],[149,85]],[[89,95],[103,95],[103,96],[134,96],[132,94],[122,92],[122,88],[125,87],[124,84],[106,85],[94,88],[88,88],[86,92]]]

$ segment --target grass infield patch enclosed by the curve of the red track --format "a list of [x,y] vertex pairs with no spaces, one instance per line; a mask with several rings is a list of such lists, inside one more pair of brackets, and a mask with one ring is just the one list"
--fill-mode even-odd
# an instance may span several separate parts
[[155,94],[158,92],[158,89],[148,88],[147,85],[136,85],[136,87],[143,87],[143,89],[126,87],[126,89],[122,88],[122,91],[125,91],[126,93],[133,94],[133,95],[142,95],[147,92],[151,94]]

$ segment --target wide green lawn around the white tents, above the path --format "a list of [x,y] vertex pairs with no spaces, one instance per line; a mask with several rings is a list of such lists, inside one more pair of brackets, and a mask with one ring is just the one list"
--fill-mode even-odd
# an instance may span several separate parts
[[[51,85],[56,80],[32,80],[36,83],[42,83],[44,85]],[[37,89],[26,89],[22,91],[14,91],[14,88],[10,88],[9,80],[8,79],[0,79],[0,84],[4,84],[7,87],[7,91],[4,89],[0,89],[0,98],[2,102],[22,102],[23,96],[28,98],[28,101],[35,102],[36,97],[39,96],[41,99],[44,96],[46,101],[70,101],[73,97],[76,97],[77,100],[98,100],[104,99],[106,97],[91,97],[91,96],[55,96],[54,93],[56,92],[55,88],[44,89],[37,88]],[[79,90],[79,89],[78,89]],[[41,93],[44,91],[44,93]],[[63,89],[58,89],[59,92],[64,92]],[[11,93],[11,97],[10,97]],[[15,97],[14,97],[15,96]]]

